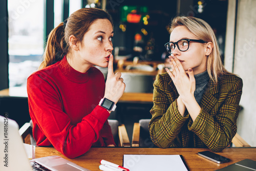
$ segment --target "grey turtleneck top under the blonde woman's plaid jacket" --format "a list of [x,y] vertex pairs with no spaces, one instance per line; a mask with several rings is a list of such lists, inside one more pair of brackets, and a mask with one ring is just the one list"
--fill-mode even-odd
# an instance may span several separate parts
[[196,79],[196,90],[194,92],[194,96],[195,96],[198,104],[200,104],[200,101],[203,97],[203,94],[204,94],[206,88],[207,88],[207,84],[210,80],[210,77],[206,70],[203,73],[195,75],[195,79]]

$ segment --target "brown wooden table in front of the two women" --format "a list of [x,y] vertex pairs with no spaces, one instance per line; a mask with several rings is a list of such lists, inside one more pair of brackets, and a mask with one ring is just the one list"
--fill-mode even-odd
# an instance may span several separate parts
[[[86,154],[75,159],[68,159],[53,147],[36,147],[35,158],[57,155],[68,159],[84,168],[92,171],[99,170],[100,160],[104,159],[119,165],[123,163],[124,154],[141,155],[182,155],[188,168],[193,170],[216,170],[244,159],[256,160],[256,148],[225,148],[217,153],[230,159],[228,163],[217,164],[197,155],[198,152],[206,151],[207,148],[139,148],[139,147],[95,147]],[[131,170],[132,171],[132,170]]]

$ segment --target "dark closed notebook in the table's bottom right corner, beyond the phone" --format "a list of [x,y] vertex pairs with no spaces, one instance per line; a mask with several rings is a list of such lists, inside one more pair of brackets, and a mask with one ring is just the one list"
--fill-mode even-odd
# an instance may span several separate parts
[[228,165],[228,166],[218,169],[218,170],[220,170],[220,171],[241,171],[241,170],[252,171],[252,170],[256,170],[256,161],[250,160],[250,159],[245,159],[245,160]]

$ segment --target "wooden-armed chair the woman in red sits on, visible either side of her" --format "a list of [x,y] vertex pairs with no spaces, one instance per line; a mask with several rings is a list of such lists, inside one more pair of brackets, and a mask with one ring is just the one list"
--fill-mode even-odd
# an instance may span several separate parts
[[[131,146],[128,134],[126,132],[126,128],[124,124],[119,124],[117,120],[109,119],[109,124],[111,126],[111,131],[115,142],[118,146]],[[24,143],[36,145],[35,140],[32,136],[32,121],[25,123],[19,129],[19,135],[22,136]]]

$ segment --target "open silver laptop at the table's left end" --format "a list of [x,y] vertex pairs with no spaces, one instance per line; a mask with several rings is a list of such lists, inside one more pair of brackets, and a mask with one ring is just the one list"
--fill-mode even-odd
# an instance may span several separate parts
[[33,167],[42,166],[45,170],[52,171],[91,171],[60,156],[29,160],[18,130],[16,121],[9,119],[7,115],[6,117],[0,116],[0,170],[31,171]]

